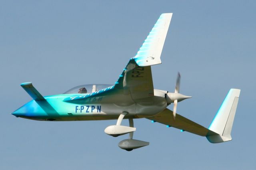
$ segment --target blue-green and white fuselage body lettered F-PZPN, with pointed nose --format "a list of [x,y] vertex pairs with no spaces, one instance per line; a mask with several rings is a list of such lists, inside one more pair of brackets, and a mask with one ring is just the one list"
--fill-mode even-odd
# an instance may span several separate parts
[[[112,97],[92,99],[92,103],[69,103],[63,101],[77,94],[61,94],[44,97],[46,101],[32,100],[12,113],[16,117],[38,121],[92,121],[118,119],[120,113],[129,113],[124,119],[146,118],[160,113],[167,107],[164,91],[154,90],[155,95],[136,99],[118,94]],[[81,96],[81,95],[79,95]],[[111,99],[110,99],[111,98]],[[95,100],[95,101],[94,101]],[[125,102],[124,102],[125,101]],[[50,107],[49,107],[50,106]]]

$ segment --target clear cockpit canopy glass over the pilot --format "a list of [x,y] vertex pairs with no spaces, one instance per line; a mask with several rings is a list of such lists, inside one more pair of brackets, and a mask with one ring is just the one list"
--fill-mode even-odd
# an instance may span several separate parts
[[86,94],[86,93],[93,93],[95,91],[99,91],[102,89],[105,89],[107,87],[110,87],[112,85],[108,84],[88,84],[88,85],[79,85],[76,87],[73,87],[72,89],[69,89],[63,94]]

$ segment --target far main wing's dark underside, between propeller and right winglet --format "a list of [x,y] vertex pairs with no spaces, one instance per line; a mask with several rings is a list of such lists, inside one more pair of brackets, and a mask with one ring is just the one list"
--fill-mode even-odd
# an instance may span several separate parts
[[205,128],[189,119],[176,114],[175,120],[173,119],[172,111],[169,109],[164,109],[162,112],[154,115],[152,117],[148,117],[152,121],[156,121],[158,123],[162,123],[164,125],[169,125],[170,127],[178,128],[187,132],[191,132],[194,134],[198,134],[200,136],[208,136],[217,134],[208,128]]

